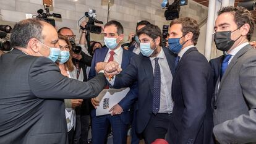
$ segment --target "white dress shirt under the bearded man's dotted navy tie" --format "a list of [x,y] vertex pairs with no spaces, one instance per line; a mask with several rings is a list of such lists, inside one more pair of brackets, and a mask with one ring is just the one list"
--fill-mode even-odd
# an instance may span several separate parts
[[[160,109],[158,113],[171,113],[173,112],[173,99],[171,98],[171,83],[173,81],[173,75],[164,54],[163,48],[161,48],[158,54],[158,64],[161,72],[161,94],[160,94]],[[155,71],[155,58],[150,57],[153,72]]]

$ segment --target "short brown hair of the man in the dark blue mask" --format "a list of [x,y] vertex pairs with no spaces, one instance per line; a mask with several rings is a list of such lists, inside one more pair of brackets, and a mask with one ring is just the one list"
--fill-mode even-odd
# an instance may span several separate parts
[[197,20],[192,19],[191,17],[183,17],[180,19],[174,19],[170,23],[170,27],[174,24],[182,25],[182,34],[186,35],[189,32],[193,33],[192,41],[194,44],[197,44],[198,37],[200,35],[200,28],[197,23]]

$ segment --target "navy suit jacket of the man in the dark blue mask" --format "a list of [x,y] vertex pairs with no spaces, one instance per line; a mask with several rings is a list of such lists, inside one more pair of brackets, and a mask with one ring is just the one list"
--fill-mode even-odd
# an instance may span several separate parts
[[173,78],[173,129],[170,130],[169,143],[213,143],[212,93],[210,64],[197,48],[188,49]]

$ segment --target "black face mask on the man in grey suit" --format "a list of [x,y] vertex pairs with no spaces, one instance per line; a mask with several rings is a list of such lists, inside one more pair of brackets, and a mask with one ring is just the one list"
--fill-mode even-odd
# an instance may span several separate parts
[[[239,28],[237,28],[236,30],[238,29]],[[233,32],[235,32],[236,30],[234,30]],[[239,36],[239,38],[237,38],[235,41],[231,40],[231,33],[233,32],[226,31],[215,33],[214,41],[217,49],[219,49],[220,51],[228,51],[233,46],[233,44],[242,36]]]

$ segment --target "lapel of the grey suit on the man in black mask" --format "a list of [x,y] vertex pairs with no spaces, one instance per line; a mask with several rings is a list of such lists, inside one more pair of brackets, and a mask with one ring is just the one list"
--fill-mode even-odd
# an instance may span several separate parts
[[237,59],[239,57],[241,57],[244,53],[246,53],[249,50],[249,44],[247,44],[246,46],[244,46],[244,48],[242,48],[240,51],[238,51],[238,53],[233,57],[233,59],[231,60],[231,62],[228,64],[228,67],[226,69],[226,71],[224,72],[223,77],[221,78],[220,81],[220,88],[218,91],[221,90],[221,86],[223,85],[223,82],[225,80],[225,78],[228,76],[229,72],[231,71],[231,69],[233,68],[233,66],[236,64]]

